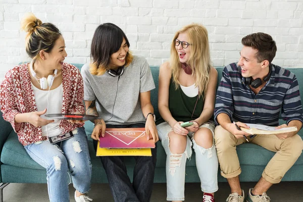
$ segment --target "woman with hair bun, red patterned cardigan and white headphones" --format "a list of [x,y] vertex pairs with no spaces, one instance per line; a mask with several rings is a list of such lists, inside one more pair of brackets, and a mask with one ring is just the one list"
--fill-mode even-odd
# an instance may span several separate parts
[[[9,70],[1,83],[0,107],[29,156],[46,169],[50,201],[70,201],[68,171],[75,200],[87,202],[91,163],[83,121],[51,120],[44,114],[84,114],[83,80],[79,70],[64,63],[65,41],[52,23],[33,14],[22,21],[26,52],[32,59]],[[69,138],[63,138],[69,137]],[[61,141],[58,141],[61,140]]]

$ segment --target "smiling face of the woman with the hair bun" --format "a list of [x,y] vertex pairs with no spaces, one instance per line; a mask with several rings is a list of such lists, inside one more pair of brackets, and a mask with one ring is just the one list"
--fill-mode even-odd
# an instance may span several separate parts
[[49,53],[44,52],[44,56],[44,66],[48,67],[49,70],[62,69],[63,61],[67,57],[65,41],[62,35],[56,40],[52,51]]

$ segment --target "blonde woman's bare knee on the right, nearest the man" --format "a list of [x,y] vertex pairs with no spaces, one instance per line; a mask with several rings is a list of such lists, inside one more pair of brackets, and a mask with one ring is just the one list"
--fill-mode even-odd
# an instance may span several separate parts
[[197,145],[203,148],[211,148],[213,146],[213,133],[208,128],[198,129],[193,136]]

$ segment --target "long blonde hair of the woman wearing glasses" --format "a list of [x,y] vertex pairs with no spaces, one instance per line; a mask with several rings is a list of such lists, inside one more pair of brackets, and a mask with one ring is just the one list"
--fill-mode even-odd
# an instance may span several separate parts
[[187,64],[192,69],[192,75],[195,76],[195,85],[199,89],[199,95],[204,95],[207,90],[207,84],[210,80],[211,55],[208,40],[207,29],[200,24],[192,23],[177,31],[171,43],[170,66],[172,69],[173,82],[178,89],[178,81],[181,63],[175,46],[175,39],[180,33],[186,33],[188,43],[190,44],[191,54]]

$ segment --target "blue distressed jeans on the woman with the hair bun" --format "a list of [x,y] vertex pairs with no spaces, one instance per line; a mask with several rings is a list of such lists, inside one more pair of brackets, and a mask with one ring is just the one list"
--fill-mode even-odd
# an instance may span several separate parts
[[68,171],[81,193],[90,189],[91,164],[84,127],[73,130],[74,137],[51,144],[38,141],[24,146],[29,156],[46,169],[49,200],[68,202]]

